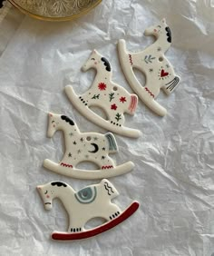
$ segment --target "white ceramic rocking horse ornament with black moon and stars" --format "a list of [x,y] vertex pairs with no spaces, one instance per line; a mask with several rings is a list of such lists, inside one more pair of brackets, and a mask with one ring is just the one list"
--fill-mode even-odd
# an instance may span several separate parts
[[[49,113],[47,136],[53,137],[57,130],[62,130],[65,141],[63,160],[59,163],[44,160],[44,167],[59,174],[77,179],[102,179],[130,172],[133,162],[115,166],[109,153],[117,153],[118,146],[112,133],[81,133],[69,117]],[[94,162],[100,170],[80,170],[80,162]]]

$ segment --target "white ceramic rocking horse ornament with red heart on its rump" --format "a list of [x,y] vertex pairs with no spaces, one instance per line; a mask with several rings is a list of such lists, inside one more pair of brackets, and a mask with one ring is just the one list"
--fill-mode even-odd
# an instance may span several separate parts
[[[122,70],[133,91],[138,94],[154,113],[164,116],[167,111],[155,101],[160,89],[171,94],[180,82],[180,77],[174,73],[173,67],[164,53],[170,48],[171,32],[166,20],[145,30],[145,35],[154,35],[156,41],[139,53],[130,53],[126,50],[124,40],[118,43],[119,57]],[[144,87],[138,81],[133,68],[140,70],[146,76]]]

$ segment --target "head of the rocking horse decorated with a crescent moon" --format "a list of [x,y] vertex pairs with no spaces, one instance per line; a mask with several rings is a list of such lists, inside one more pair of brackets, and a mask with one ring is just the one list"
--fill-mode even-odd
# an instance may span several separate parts
[[77,131],[77,127],[72,119],[66,115],[48,113],[48,131],[47,136],[52,137],[57,130],[69,130],[71,132]]

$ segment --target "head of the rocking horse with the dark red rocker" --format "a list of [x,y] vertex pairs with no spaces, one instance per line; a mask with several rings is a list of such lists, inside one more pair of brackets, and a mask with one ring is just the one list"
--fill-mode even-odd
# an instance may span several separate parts
[[58,197],[63,188],[68,185],[64,182],[49,182],[44,185],[37,186],[37,190],[44,202],[45,210],[52,209],[52,201],[55,197]]

